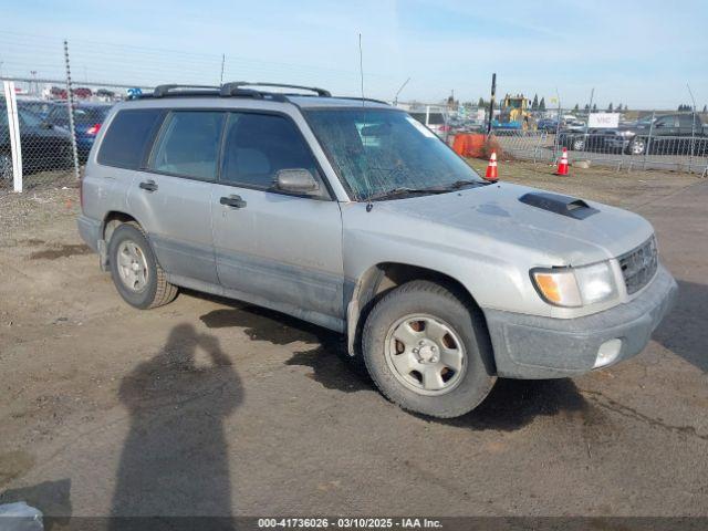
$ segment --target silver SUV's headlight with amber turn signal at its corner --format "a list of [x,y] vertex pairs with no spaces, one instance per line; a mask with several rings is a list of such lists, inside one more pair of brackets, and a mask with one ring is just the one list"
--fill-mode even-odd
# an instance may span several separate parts
[[556,306],[577,308],[617,295],[610,262],[582,268],[532,269],[531,279],[541,298]]

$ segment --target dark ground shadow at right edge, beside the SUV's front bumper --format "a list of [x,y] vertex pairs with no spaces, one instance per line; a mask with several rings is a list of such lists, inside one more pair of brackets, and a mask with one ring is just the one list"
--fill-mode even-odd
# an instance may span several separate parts
[[674,310],[653,334],[654,341],[708,372],[708,285],[677,280]]

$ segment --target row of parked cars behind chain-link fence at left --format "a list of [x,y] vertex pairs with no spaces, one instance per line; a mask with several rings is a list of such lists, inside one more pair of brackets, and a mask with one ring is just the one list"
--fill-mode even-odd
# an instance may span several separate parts
[[[111,104],[81,102],[74,105],[74,131],[80,163],[88,157]],[[0,106],[0,179],[12,179],[12,154],[7,111]],[[73,166],[66,102],[18,100],[23,174],[66,169]]]

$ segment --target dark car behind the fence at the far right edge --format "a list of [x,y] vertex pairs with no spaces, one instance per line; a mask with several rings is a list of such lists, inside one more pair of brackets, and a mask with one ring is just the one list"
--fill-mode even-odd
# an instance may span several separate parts
[[697,114],[646,116],[635,124],[612,129],[608,146],[631,155],[708,154],[708,126]]

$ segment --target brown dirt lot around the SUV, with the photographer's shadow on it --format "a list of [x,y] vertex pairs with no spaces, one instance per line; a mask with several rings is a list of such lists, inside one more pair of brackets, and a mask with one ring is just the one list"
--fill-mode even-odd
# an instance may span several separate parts
[[[472,163],[483,166],[483,163]],[[187,292],[140,312],[77,191],[0,197],[0,502],[50,514],[708,514],[708,181],[500,163],[655,226],[680,284],[643,354],[499,381],[468,416],[387,403],[340,339]]]

